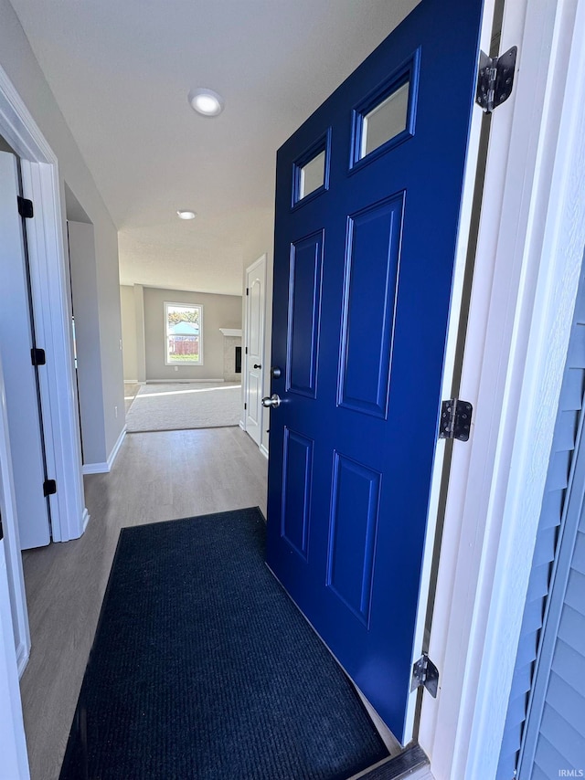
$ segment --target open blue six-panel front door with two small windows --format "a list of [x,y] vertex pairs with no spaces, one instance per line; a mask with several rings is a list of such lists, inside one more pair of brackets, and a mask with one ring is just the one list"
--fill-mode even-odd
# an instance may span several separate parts
[[399,739],[481,16],[422,0],[277,159],[267,560]]

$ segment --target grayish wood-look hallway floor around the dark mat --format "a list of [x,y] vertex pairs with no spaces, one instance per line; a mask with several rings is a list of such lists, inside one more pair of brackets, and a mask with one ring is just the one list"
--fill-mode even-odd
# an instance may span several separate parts
[[239,427],[128,434],[112,471],[84,483],[84,535],[24,558],[32,780],[58,778],[120,528],[256,505],[266,515],[267,461]]

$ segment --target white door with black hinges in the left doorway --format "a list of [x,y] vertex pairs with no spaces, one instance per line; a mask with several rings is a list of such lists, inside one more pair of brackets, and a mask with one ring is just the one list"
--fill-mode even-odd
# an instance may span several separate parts
[[14,154],[0,153],[0,354],[21,549],[50,542],[37,376]]

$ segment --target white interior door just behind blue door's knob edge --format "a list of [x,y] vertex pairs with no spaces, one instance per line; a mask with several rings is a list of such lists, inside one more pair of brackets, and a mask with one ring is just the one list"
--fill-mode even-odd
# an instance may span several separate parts
[[246,270],[246,431],[260,447],[262,439],[262,387],[264,368],[264,309],[266,255]]

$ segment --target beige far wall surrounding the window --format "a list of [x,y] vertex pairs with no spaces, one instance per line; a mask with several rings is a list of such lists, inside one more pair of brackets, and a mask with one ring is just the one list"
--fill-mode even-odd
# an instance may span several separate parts
[[[171,303],[199,303],[203,306],[203,365],[165,365],[165,300]],[[219,328],[241,328],[239,295],[211,295],[145,287],[146,381],[223,378],[223,334]]]

